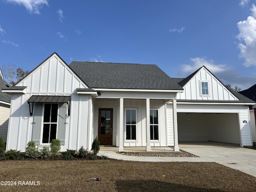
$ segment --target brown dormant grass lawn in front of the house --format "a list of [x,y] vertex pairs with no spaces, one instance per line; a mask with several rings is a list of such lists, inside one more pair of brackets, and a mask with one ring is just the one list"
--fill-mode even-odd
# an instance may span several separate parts
[[[165,177],[163,177],[165,175]],[[88,178],[100,182],[87,182]],[[10,191],[255,191],[256,178],[209,162],[130,162],[119,160],[24,160],[1,161],[0,186]],[[18,181],[37,181],[40,186],[20,186]]]

